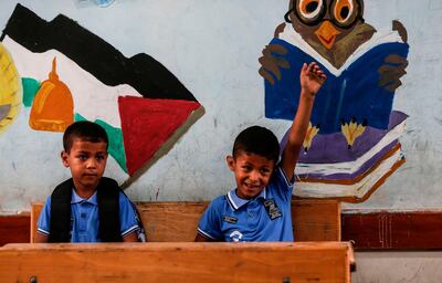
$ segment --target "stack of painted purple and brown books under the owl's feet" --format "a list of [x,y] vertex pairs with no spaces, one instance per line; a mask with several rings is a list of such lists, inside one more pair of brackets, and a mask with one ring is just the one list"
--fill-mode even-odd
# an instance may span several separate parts
[[295,169],[294,195],[350,202],[366,200],[406,160],[399,137],[407,117],[393,111],[387,129],[367,126],[356,138],[343,134],[357,134],[356,123],[343,124],[341,133],[316,135],[312,140],[307,140],[307,134]]

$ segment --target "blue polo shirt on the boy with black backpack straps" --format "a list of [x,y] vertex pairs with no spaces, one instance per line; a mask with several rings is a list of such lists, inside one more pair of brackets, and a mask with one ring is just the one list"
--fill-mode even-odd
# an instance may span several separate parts
[[[44,203],[36,224],[38,232],[49,235],[51,223],[51,196]],[[72,189],[71,198],[71,242],[101,242],[98,238],[98,202],[95,191],[88,199],[81,198]],[[136,212],[127,197],[119,192],[119,224],[122,237],[139,229]]]

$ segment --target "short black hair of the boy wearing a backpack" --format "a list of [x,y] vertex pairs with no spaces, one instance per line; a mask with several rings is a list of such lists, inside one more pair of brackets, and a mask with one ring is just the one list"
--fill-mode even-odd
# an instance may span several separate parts
[[91,143],[106,143],[106,148],[109,144],[106,130],[98,124],[88,120],[78,120],[71,124],[63,134],[64,151],[70,153],[74,139],[78,138]]

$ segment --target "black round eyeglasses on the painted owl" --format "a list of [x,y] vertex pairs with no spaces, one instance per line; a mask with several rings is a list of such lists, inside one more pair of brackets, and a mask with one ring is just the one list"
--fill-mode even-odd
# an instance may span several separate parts
[[[296,1],[296,2],[297,2],[297,1]],[[313,19],[307,19],[307,18],[302,17],[302,15],[299,14],[298,10],[296,9],[297,3],[294,3],[293,8],[290,9],[290,10],[284,14],[284,20],[285,20],[286,22],[288,22],[288,23],[292,23],[292,20],[290,19],[288,15],[293,12],[293,13],[296,15],[296,18],[297,18],[302,23],[304,23],[304,24],[306,24],[306,25],[309,25],[309,27],[316,25],[316,24],[318,24],[318,23],[320,23],[320,22],[323,22],[323,21],[325,21],[325,20],[328,20],[328,21],[333,22],[335,25],[337,25],[337,27],[339,27],[339,28],[349,29],[349,28],[351,28],[352,25],[355,25],[355,23],[356,23],[358,20],[360,20],[361,22],[364,22],[364,18],[362,18],[362,6],[361,6],[361,3],[360,3],[359,1],[357,1],[357,2],[358,2],[357,14],[356,14],[356,17],[354,17],[352,19],[350,18],[349,21],[338,21],[338,19],[336,19],[336,17],[335,17],[334,13],[330,13],[330,17],[326,18],[327,10],[332,11],[333,6],[335,4],[334,2],[335,2],[335,1],[332,1],[332,2],[329,3],[328,8],[327,8],[326,4],[324,3],[324,4],[320,7],[320,11],[318,12],[318,14],[317,14],[315,18],[313,18]]]

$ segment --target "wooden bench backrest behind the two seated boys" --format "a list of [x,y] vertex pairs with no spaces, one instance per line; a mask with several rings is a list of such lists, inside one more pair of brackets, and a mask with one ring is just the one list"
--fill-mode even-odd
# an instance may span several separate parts
[[[32,203],[31,243],[43,203]],[[191,242],[208,202],[139,202],[149,242]],[[292,200],[295,241],[340,241],[340,205],[336,200]]]

